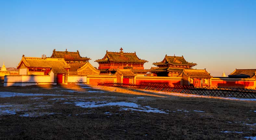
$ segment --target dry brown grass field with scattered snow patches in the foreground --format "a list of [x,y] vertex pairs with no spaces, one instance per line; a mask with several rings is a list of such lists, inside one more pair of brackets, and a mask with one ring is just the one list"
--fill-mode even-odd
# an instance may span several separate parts
[[256,101],[89,85],[0,86],[0,139],[255,139]]

